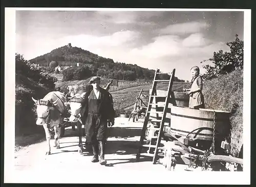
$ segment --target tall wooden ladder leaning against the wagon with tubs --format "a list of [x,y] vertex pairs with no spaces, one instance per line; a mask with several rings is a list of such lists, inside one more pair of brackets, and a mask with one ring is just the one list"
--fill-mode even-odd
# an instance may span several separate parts
[[[160,75],[160,74],[166,74],[166,73],[160,73],[159,69],[157,69],[157,71],[155,73],[155,77],[154,77],[154,81],[153,81],[153,85],[152,85],[152,89],[151,89],[151,94],[150,94],[150,98],[149,98],[150,101],[148,102],[148,105],[147,105],[145,120],[144,120],[143,128],[142,128],[142,131],[141,131],[140,146],[138,148],[136,161],[139,161],[139,159],[140,159],[142,147],[148,147],[149,149],[154,148],[155,149],[154,154],[148,154],[148,155],[153,157],[153,163],[156,163],[156,161],[158,159],[158,149],[159,149],[159,145],[160,145],[161,138],[162,138],[162,132],[163,132],[163,127],[164,127],[164,122],[165,122],[165,116],[166,116],[167,109],[168,109],[168,104],[170,103],[169,98],[170,98],[170,94],[172,92],[173,80],[174,80],[174,76],[175,76],[175,69],[173,69],[173,72],[170,75],[170,79],[168,79],[168,80],[160,80],[159,78],[157,78],[158,77],[157,75]],[[169,83],[166,97],[157,96],[156,86],[157,86],[158,82],[168,82]],[[155,98],[156,103],[153,103],[154,98]],[[159,99],[159,102],[161,102],[160,101],[161,99],[163,99],[162,102],[163,101],[165,102],[164,107],[163,107],[163,111],[157,111],[157,110],[155,112],[151,111],[152,105],[156,105],[156,106],[157,105],[163,105],[163,104],[157,104],[158,99]],[[150,113],[156,113],[157,117],[158,117],[159,113],[162,113],[163,115],[162,115],[161,120],[158,120],[158,118],[156,120],[154,120],[154,119],[150,119]],[[159,128],[153,128],[153,130],[159,130],[158,135],[151,137],[151,138],[157,139],[156,145],[143,144],[148,122],[158,122],[158,123],[160,122],[160,127]],[[152,129],[152,128],[150,128],[150,129]]]

